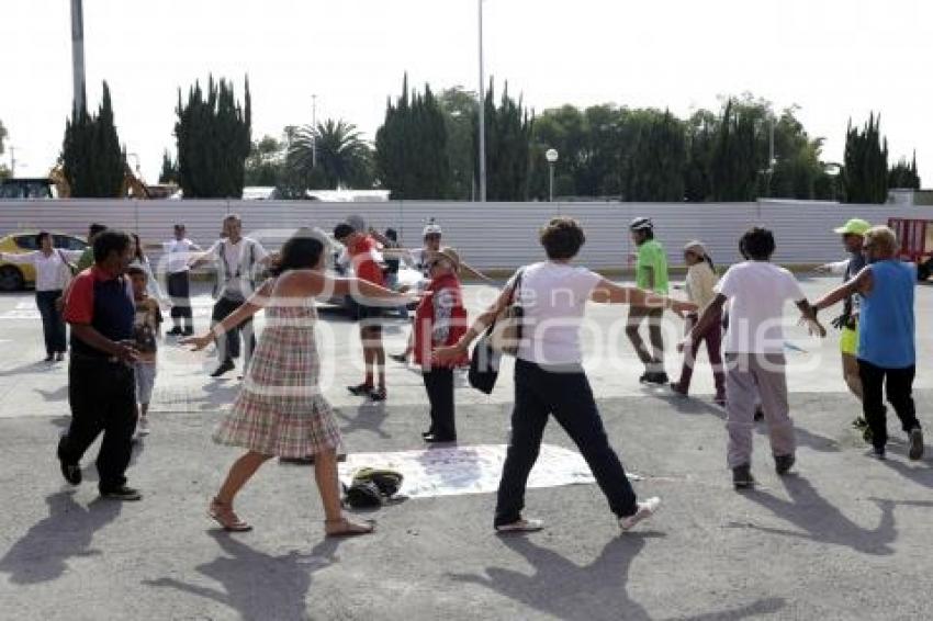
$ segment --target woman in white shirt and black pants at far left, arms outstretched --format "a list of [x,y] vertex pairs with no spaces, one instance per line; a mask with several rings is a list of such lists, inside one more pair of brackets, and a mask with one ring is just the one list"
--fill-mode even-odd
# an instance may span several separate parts
[[55,248],[52,234],[43,230],[36,235],[38,250],[23,253],[0,252],[0,261],[26,263],[35,267],[35,303],[42,316],[42,331],[45,337],[45,361],[65,360],[68,351],[65,334],[65,320],[58,309],[61,291],[71,280],[70,261],[77,261],[82,250],[63,250]]

